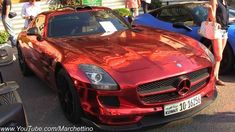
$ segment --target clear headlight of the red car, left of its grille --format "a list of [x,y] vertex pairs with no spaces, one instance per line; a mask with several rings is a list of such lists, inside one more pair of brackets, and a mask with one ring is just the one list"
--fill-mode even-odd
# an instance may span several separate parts
[[85,73],[93,88],[100,90],[118,90],[117,83],[102,68],[90,64],[80,64],[79,69]]

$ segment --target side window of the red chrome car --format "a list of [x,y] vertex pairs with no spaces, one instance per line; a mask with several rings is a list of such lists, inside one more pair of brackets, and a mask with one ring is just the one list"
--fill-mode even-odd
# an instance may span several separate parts
[[33,23],[33,27],[38,28],[38,32],[40,35],[43,35],[43,32],[44,32],[45,18],[46,18],[45,15],[39,15],[37,16],[37,18],[35,19]]

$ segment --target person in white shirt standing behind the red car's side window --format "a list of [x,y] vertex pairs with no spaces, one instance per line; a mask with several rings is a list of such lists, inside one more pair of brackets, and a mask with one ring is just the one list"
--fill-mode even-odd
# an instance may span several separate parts
[[29,0],[25,3],[21,10],[21,16],[25,19],[24,28],[26,29],[30,22],[36,17],[41,11],[40,6],[36,4],[36,0]]

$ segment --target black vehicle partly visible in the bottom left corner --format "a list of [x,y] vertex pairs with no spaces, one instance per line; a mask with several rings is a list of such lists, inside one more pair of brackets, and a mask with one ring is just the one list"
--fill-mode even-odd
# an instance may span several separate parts
[[16,127],[27,127],[19,85],[14,81],[4,82],[0,72],[0,131],[18,131]]

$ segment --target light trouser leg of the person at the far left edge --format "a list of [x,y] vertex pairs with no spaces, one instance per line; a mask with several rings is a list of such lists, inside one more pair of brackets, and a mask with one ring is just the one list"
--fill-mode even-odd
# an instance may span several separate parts
[[3,26],[6,30],[6,32],[10,35],[9,39],[11,41],[12,46],[15,46],[16,45],[16,34],[12,29],[12,24],[11,24],[10,19],[8,19],[8,18],[2,19],[2,23],[3,23]]

